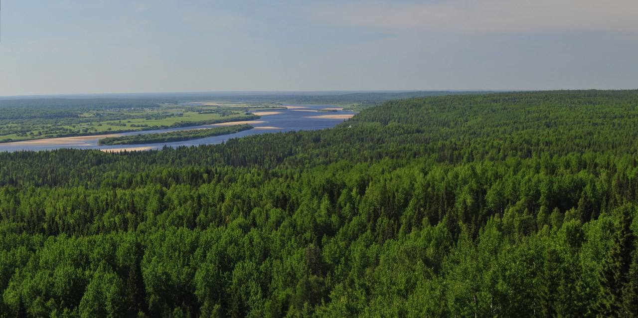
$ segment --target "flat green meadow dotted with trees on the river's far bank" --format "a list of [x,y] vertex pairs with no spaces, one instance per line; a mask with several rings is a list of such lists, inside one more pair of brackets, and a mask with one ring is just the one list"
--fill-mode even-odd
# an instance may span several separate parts
[[0,108],[0,142],[249,120],[257,118],[250,111],[263,109],[271,108],[156,103],[149,107],[27,110],[29,116],[24,116],[21,109]]

